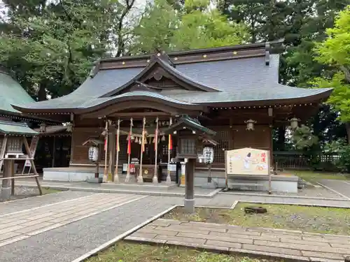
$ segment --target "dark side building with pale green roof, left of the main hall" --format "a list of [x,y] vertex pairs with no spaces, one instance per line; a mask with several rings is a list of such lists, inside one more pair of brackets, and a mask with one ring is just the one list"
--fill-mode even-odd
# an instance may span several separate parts
[[[38,172],[52,166],[69,166],[71,133],[66,132],[62,122],[49,119],[45,115],[26,115],[11,105],[36,103],[34,99],[15,81],[8,70],[0,65],[0,119],[10,122],[26,122],[31,129],[38,131],[39,140],[36,147],[35,162]],[[15,127],[13,127],[15,128]],[[18,163],[20,172],[23,162]]]

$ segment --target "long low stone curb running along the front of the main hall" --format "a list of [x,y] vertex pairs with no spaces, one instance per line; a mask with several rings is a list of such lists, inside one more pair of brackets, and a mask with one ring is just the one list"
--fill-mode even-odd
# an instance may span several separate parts
[[[25,185],[22,184],[22,187],[36,187],[34,185]],[[172,193],[172,192],[159,192],[159,191],[132,191],[132,190],[124,190],[124,189],[94,189],[94,188],[88,188],[88,187],[59,187],[59,186],[45,186],[50,189],[56,189],[56,190],[71,190],[71,191],[86,191],[86,192],[94,192],[94,193],[116,193],[116,194],[134,194],[134,195],[144,195],[144,196],[185,196],[185,194],[182,193]],[[211,192],[207,195],[202,194],[195,194],[195,197],[197,198],[214,198],[216,194],[221,189],[216,189],[215,191]]]

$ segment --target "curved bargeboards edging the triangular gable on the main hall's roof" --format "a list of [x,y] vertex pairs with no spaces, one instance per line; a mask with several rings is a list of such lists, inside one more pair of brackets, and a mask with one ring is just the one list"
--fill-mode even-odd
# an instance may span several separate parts
[[194,80],[191,80],[183,73],[180,73],[179,71],[176,71],[175,68],[172,68],[172,66],[169,66],[166,64],[162,59],[159,59],[158,57],[155,57],[153,61],[151,61],[148,66],[146,66],[139,74],[137,74],[134,78],[132,78],[130,81],[126,82],[124,85],[117,87],[111,92],[108,92],[102,96],[99,97],[109,97],[117,94],[118,92],[122,91],[123,89],[130,87],[130,85],[133,85],[135,81],[138,81],[142,76],[144,76],[148,71],[155,66],[155,64],[159,64],[167,73],[170,75],[173,75],[176,78],[179,78],[181,81],[186,82],[188,85],[192,85],[193,87],[197,87],[198,89],[204,91],[204,92],[221,92],[220,89],[216,89],[213,87],[207,87],[206,85],[202,85],[199,82],[195,82]]

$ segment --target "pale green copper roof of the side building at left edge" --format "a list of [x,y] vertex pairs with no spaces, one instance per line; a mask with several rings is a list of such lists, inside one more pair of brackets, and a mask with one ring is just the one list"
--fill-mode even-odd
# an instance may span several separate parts
[[0,110],[20,113],[11,105],[24,105],[33,103],[34,99],[29,96],[25,89],[0,68]]

